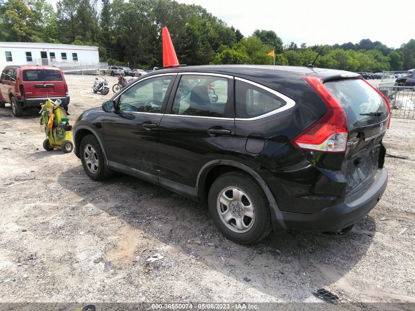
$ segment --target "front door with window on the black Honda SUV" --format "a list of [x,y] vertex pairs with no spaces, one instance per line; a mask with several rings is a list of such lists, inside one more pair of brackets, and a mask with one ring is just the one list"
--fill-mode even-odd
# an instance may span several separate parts
[[104,121],[110,167],[151,174],[149,179],[157,180],[159,124],[174,77],[174,74],[148,77],[115,99],[116,110],[106,115]]

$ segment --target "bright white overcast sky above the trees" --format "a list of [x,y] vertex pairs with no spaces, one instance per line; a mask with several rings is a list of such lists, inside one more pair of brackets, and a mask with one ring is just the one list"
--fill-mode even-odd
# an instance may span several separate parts
[[[56,0],[48,0],[56,3]],[[381,41],[399,48],[415,38],[415,1],[390,0],[177,0],[198,4],[249,36],[274,30],[284,44]],[[411,16],[412,15],[412,16]],[[411,26],[412,25],[412,26]],[[409,26],[409,27],[408,27]]]

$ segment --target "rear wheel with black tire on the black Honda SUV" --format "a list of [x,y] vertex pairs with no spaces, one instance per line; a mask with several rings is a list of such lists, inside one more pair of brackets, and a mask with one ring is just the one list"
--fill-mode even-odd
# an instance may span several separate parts
[[[237,228],[236,218],[231,218],[225,225],[225,220],[220,216],[220,210],[225,205],[219,202],[219,199],[220,197],[222,198],[222,194],[227,194],[229,191],[232,193],[232,198],[230,199],[232,200],[232,204],[238,202],[236,205],[233,205],[232,209],[229,209],[229,211],[233,216],[239,217],[240,221],[243,222],[247,229],[240,230]],[[244,193],[240,197],[240,201],[236,200],[233,191]],[[244,209],[241,211],[241,206],[248,206],[243,202],[244,200],[250,203],[249,206],[252,205],[253,212],[251,212],[251,214],[253,217],[245,216]],[[218,177],[210,187],[208,205],[215,226],[231,241],[239,244],[250,244],[265,238],[272,231],[268,200],[258,183],[244,172],[232,171]],[[227,209],[225,212],[226,211]],[[242,217],[240,215],[242,215]],[[234,224],[232,222],[234,222]]]

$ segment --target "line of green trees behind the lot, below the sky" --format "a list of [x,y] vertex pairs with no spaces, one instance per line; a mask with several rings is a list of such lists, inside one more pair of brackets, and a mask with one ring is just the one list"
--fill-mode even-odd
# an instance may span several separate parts
[[276,64],[379,72],[415,68],[415,40],[399,48],[362,39],[334,45],[284,45],[273,30],[239,29],[199,5],[172,0],[0,0],[0,41],[50,42],[99,47],[100,60],[134,68],[162,66],[161,28],[170,32],[183,64]]

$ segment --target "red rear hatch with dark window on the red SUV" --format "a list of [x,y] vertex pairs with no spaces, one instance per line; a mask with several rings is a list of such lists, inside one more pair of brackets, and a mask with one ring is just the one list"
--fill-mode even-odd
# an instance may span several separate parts
[[65,96],[65,80],[57,69],[27,69],[22,73],[26,98]]

